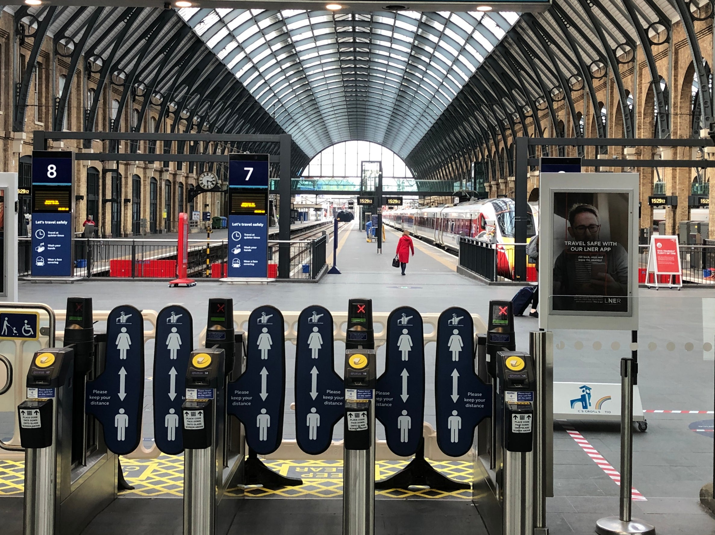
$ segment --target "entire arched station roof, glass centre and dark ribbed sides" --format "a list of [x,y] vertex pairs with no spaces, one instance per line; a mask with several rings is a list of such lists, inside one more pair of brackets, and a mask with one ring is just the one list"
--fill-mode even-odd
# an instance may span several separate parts
[[[538,121],[536,131],[524,125],[538,114],[556,125],[561,101],[586,136],[606,135],[603,121],[581,116],[571,100],[571,91],[584,89],[596,109],[593,85],[606,75],[616,76],[623,111],[623,128],[616,121],[618,131],[607,134],[633,136],[632,97],[629,103],[619,67],[635,61],[638,44],[669,42],[684,9],[706,19],[708,8],[707,0],[553,0],[548,11],[524,14],[4,9],[17,27],[25,22],[26,37],[51,17],[44,31],[56,52],[71,61],[82,51],[92,79],[131,89],[132,99],[142,98],[141,114],[149,96],[172,122],[186,119],[188,131],[291,134],[293,176],[327,146],[365,140],[430,178],[470,152],[478,159],[490,142],[508,146],[514,136],[543,134]],[[652,54],[644,59],[654,63]],[[654,66],[650,74],[657,76]],[[106,129],[92,119],[85,129]],[[557,132],[574,134],[583,132]]]

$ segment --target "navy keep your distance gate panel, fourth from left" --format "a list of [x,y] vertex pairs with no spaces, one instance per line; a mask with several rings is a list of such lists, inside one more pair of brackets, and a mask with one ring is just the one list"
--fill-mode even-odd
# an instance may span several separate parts
[[335,373],[332,314],[308,306],[298,317],[295,348],[295,438],[302,451],[322,454],[342,418],[345,392]]

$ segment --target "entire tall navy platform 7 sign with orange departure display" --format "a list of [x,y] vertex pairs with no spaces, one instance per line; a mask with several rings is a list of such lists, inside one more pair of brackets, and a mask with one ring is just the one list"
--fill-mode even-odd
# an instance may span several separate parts
[[268,275],[268,154],[230,154],[228,276]]

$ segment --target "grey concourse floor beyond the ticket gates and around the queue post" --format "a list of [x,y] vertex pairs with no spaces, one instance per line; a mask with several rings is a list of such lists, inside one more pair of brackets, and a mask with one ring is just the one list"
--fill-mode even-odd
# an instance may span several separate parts
[[[345,310],[350,297],[373,299],[376,311],[414,306],[420,312],[440,312],[463,306],[486,317],[490,299],[511,299],[516,289],[484,286],[455,273],[455,257],[415,240],[417,249],[407,276],[391,266],[398,235],[388,231],[383,254],[355,230],[339,236],[337,266],[341,275],[328,275],[320,284],[268,284],[230,286],[200,283],[193,288],[169,289],[146,281],[89,281],[75,284],[20,284],[22,301],[41,301],[65,308],[67,296],[92,296],[95,310],[119,304],[159,310],[169,303],[186,306],[194,316],[196,333],[207,316],[207,299],[234,299],[236,310],[272,304],[299,311],[311,304]],[[712,411],[714,385],[715,291],[709,289],[639,291],[640,330],[638,384],[644,409]],[[516,319],[518,350],[528,350],[528,332],[537,321]],[[555,331],[556,381],[620,381],[619,359],[630,356],[631,334],[623,331]],[[287,344],[287,369],[294,361]],[[337,354],[336,346],[336,354]],[[147,370],[152,369],[152,349],[147,346]],[[425,418],[433,421],[434,399],[430,365],[434,347],[426,350],[428,391]],[[340,359],[336,359],[340,360]],[[342,362],[336,369],[342,368]],[[432,368],[433,370],[433,368]],[[380,370],[378,370],[380,371]],[[149,374],[150,376],[150,374]],[[291,377],[288,378],[291,384]],[[151,401],[150,389],[147,401]],[[286,407],[292,401],[290,389]],[[147,404],[147,411],[150,406]],[[287,410],[284,436],[293,436],[294,418]],[[147,416],[147,414],[145,414]],[[715,519],[701,509],[699,489],[713,477],[713,415],[646,414],[649,429],[633,437],[633,486],[645,497],[633,505],[633,515],[656,526],[659,534],[715,534]],[[618,469],[618,424],[570,422],[599,454]],[[337,426],[336,429],[340,429]],[[701,429],[701,431],[697,431]],[[145,433],[149,429],[145,428]],[[337,436],[336,436],[337,438]],[[618,486],[578,446],[561,426],[554,438],[556,496],[548,500],[552,535],[590,534],[598,518],[618,514]],[[0,503],[3,500],[0,499]],[[465,531],[466,533],[466,531]]]

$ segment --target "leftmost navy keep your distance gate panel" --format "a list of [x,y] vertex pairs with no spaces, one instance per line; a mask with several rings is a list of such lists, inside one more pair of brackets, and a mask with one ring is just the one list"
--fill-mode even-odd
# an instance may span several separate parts
[[134,306],[117,306],[107,319],[104,372],[87,384],[87,414],[104,428],[104,442],[118,455],[141,440],[144,404],[144,318]]

